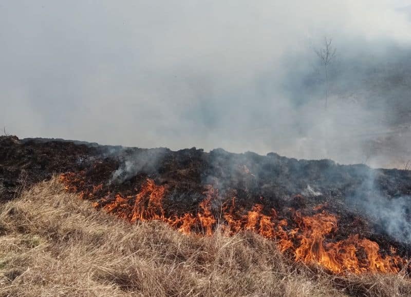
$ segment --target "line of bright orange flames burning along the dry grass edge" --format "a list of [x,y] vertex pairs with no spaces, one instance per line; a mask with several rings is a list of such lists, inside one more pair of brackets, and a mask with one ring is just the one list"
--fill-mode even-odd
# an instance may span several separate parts
[[302,215],[290,209],[288,218],[280,218],[271,209],[264,212],[264,206],[255,204],[251,210],[237,209],[235,197],[224,203],[221,208],[221,220],[217,221],[212,211],[212,202],[219,197],[218,190],[209,186],[204,192],[206,198],[199,204],[198,213],[184,213],[181,216],[167,215],[163,208],[166,188],[147,180],[135,195],[123,196],[110,193],[103,195],[103,185],[88,186],[82,173],[65,173],[60,177],[65,189],[78,192],[80,197],[98,199],[93,204],[108,213],[129,222],[157,220],[170,225],[184,234],[202,234],[211,236],[220,224],[228,234],[251,231],[266,239],[273,240],[281,252],[294,257],[295,261],[308,265],[320,265],[338,273],[398,273],[407,268],[406,259],[396,255],[391,248],[389,254],[382,255],[376,242],[360,238],[359,234],[348,239],[333,241],[338,230],[338,217],[323,209],[324,205],[313,208],[320,211],[313,215]]

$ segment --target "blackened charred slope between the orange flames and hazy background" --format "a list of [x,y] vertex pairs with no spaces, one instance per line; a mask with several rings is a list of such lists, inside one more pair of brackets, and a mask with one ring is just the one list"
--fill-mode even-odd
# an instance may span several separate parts
[[[411,172],[405,170],[296,160],[275,153],[262,156],[196,148],[172,151],[0,136],[0,202],[64,172],[81,172],[87,185],[102,184],[102,193],[133,194],[147,178],[153,179],[166,186],[164,207],[171,214],[195,212],[208,184],[217,188],[221,197],[235,195],[245,210],[261,203],[265,209],[274,207],[280,213],[293,208],[310,214],[313,206],[324,204],[325,210],[339,217],[335,239],[360,233],[379,243],[382,250],[394,246],[400,254],[411,253],[409,241],[404,240],[411,235],[408,229],[399,237],[386,232],[384,224],[393,212],[388,212],[384,221],[364,210],[367,204],[384,200],[396,205],[410,196]],[[214,207],[219,206],[214,201]],[[409,212],[402,202],[405,223],[410,221]]]

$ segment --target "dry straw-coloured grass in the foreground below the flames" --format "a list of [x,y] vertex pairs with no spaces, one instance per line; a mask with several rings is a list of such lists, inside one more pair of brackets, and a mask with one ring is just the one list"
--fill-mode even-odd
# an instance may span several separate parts
[[411,295],[400,275],[336,278],[246,232],[186,236],[95,211],[57,181],[0,206],[0,296]]

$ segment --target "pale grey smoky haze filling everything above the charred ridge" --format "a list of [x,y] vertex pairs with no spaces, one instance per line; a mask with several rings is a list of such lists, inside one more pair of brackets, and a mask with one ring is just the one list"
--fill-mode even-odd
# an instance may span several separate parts
[[408,1],[10,0],[0,41],[0,125],[18,137],[411,159]]

